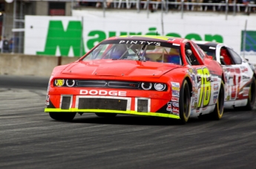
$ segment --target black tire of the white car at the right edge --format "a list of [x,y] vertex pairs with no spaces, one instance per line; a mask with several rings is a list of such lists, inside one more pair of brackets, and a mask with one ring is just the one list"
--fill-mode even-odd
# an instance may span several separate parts
[[255,97],[256,97],[256,82],[255,77],[252,77],[252,83],[249,89],[249,96],[247,99],[247,105],[243,107],[244,110],[250,111],[253,106],[255,106]]

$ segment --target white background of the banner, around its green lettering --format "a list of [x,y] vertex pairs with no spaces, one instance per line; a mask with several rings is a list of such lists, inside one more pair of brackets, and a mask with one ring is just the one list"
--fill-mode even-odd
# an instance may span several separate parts
[[[163,25],[162,25],[163,19]],[[220,13],[185,13],[183,18],[180,13],[164,13],[163,18],[160,12],[146,13],[137,11],[106,11],[105,17],[100,10],[73,10],[73,17],[52,17],[52,16],[26,16],[25,18],[25,54],[35,55],[36,51],[43,51],[47,35],[47,25],[50,20],[61,20],[64,27],[68,21],[83,21],[83,39],[85,51],[91,37],[88,33],[93,30],[105,32],[142,32],[142,35],[150,32],[150,27],[155,27],[161,35],[175,32],[183,38],[186,35],[195,33],[200,35],[202,40],[206,34],[221,35],[223,43],[232,46],[240,53],[241,33],[246,30],[256,31],[256,15],[232,15],[227,19],[225,14]],[[33,29],[31,29],[31,26]],[[107,37],[108,38],[108,37]],[[96,42],[97,43],[97,42]],[[95,43],[95,44],[96,44]],[[70,52],[69,56],[72,56]],[[56,54],[57,55],[57,54]],[[256,54],[246,55],[250,61],[256,63]]]

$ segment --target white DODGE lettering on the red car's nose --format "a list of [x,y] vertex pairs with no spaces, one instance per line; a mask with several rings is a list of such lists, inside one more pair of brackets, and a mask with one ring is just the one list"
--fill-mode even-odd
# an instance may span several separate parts
[[126,96],[124,91],[106,91],[106,90],[80,90],[81,95],[111,95],[111,96]]

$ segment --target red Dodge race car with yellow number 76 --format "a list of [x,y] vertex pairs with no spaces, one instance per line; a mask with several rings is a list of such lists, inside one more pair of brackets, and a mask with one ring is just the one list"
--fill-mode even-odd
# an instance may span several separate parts
[[184,38],[134,35],[108,38],[78,61],[56,66],[45,112],[54,120],[76,113],[223,116],[225,76],[220,63]]

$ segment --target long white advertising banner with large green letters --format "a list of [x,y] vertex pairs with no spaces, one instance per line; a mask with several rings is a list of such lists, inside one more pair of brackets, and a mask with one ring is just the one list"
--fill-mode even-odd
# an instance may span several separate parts
[[[73,16],[25,16],[24,53],[80,57],[105,38],[118,35],[168,35],[217,41],[256,58],[256,15],[131,13],[73,10]],[[255,61],[256,62],[256,61]]]

